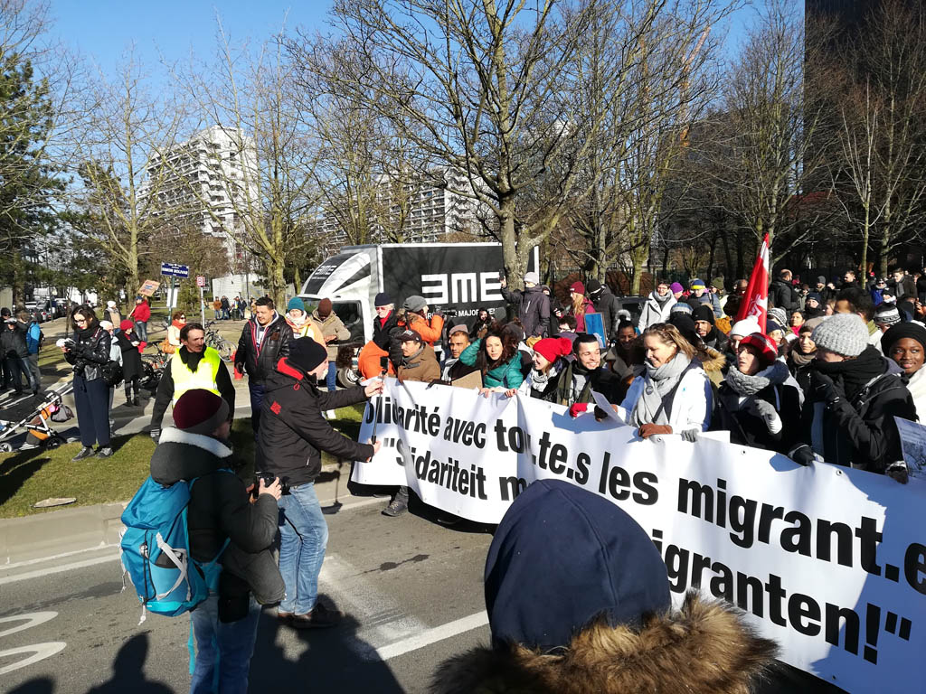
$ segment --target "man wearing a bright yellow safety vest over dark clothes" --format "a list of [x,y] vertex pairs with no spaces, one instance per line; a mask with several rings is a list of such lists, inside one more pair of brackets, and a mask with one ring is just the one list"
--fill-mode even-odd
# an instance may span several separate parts
[[228,367],[219,353],[206,347],[206,330],[199,323],[187,323],[180,331],[181,348],[170,357],[160,382],[157,384],[155,407],[151,413],[151,438],[161,435],[161,420],[170,403],[187,390],[201,388],[220,395],[234,416],[234,384]]

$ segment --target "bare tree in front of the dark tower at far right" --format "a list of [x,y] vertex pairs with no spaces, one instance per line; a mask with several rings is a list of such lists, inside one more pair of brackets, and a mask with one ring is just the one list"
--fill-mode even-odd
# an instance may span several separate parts
[[861,237],[861,266],[877,241],[879,271],[926,219],[926,10],[885,0],[839,64],[838,149],[832,176],[846,218]]

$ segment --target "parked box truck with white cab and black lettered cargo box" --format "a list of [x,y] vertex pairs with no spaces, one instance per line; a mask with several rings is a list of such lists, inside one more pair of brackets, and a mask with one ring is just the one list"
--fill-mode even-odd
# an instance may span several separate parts
[[[528,270],[536,271],[535,248]],[[332,300],[334,313],[350,330],[355,353],[373,337],[373,302],[385,291],[395,307],[418,294],[433,310],[440,308],[448,324],[471,325],[480,308],[505,305],[499,272],[503,267],[501,243],[380,243],[345,246],[309,275],[299,296],[307,305]],[[439,348],[435,345],[435,348]],[[344,385],[356,374],[342,369]]]

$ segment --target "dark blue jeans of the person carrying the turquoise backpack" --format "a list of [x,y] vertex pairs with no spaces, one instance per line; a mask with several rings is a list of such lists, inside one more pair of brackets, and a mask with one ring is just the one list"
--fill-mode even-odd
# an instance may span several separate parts
[[[218,593],[209,591],[206,601],[196,605],[190,613],[196,637],[190,694],[246,694],[259,617],[260,608],[253,597],[247,616],[227,624],[219,622]],[[219,687],[215,688],[217,682]]]

